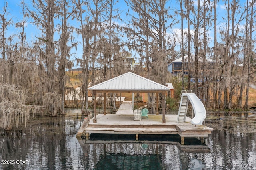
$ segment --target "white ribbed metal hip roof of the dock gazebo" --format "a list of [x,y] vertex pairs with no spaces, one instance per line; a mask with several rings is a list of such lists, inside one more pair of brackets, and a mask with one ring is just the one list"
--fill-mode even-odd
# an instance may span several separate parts
[[157,92],[167,91],[169,88],[145,77],[128,72],[89,87],[88,90],[97,92]]

